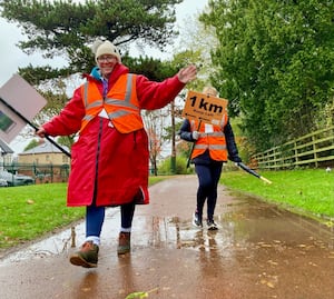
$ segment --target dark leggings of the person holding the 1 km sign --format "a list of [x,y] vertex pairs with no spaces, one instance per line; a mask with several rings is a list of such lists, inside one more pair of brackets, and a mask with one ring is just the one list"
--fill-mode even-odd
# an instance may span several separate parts
[[198,177],[197,189],[197,212],[203,217],[203,208],[207,199],[207,218],[213,220],[216,202],[217,187],[220,179],[223,163],[215,162],[210,165],[195,165],[195,171]]

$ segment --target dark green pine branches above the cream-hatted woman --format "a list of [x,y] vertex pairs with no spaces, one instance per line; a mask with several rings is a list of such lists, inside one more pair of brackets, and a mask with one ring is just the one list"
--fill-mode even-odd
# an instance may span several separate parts
[[[27,36],[19,47],[27,53],[42,52],[46,58],[63,56],[68,66],[62,69],[28,68],[30,80],[68,77],[90,71],[94,59],[89,44],[96,38],[105,38],[127,49],[130,42],[156,46],[160,49],[171,41],[174,30],[174,4],[181,0],[86,0],[1,1],[2,17],[16,21]],[[31,82],[31,81],[30,81]]]

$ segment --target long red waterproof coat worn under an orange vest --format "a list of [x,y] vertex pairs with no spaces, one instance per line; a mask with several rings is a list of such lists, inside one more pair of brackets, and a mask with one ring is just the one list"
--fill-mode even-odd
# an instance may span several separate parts
[[[109,78],[109,88],[128,68],[116,64]],[[95,80],[102,93],[102,83]],[[154,110],[173,101],[184,88],[177,76],[163,82],[137,76],[137,97],[140,109]],[[72,99],[42,127],[49,136],[68,136],[80,130],[86,114],[80,88]],[[71,149],[71,172],[68,182],[67,206],[89,206],[96,192],[97,206],[119,206],[131,202],[148,203],[148,138],[145,129],[120,133],[110,128],[109,120],[96,117],[89,121]]]

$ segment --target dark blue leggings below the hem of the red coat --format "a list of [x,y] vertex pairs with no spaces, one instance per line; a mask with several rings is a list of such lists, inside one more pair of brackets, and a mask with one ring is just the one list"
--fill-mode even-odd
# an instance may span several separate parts
[[[105,221],[105,207],[88,206],[86,209],[86,237],[100,237]],[[135,203],[130,202],[120,206],[120,225],[121,228],[131,228],[135,213]]]

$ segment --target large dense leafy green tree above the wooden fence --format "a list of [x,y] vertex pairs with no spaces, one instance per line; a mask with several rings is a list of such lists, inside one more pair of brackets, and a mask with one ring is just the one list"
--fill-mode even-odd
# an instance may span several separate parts
[[216,29],[212,76],[257,150],[307,133],[332,100],[334,2],[210,1],[200,20]]

